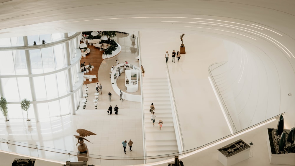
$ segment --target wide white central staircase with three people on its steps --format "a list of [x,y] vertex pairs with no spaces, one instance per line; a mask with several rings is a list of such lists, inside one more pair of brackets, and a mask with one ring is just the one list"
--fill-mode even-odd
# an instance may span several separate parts
[[[167,78],[148,78],[143,81],[143,103],[145,112],[146,156],[165,155],[178,152],[173,126],[171,100]],[[155,106],[155,126],[150,119],[150,105]],[[163,121],[162,129],[158,127]],[[174,157],[174,155],[173,155]],[[163,160],[160,159],[160,160]],[[159,161],[160,161],[159,160]],[[156,159],[147,162],[155,162]]]

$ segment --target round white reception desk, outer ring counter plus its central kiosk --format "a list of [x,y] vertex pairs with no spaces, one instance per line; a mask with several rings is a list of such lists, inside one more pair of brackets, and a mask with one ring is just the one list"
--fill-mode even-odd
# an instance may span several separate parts
[[[128,67],[124,68],[124,65],[127,65]],[[111,74],[111,83],[112,83],[112,88],[113,90],[115,91],[115,93],[120,96],[120,89],[119,87],[117,86],[117,78],[119,77],[119,71],[118,71],[118,68],[120,70],[120,73],[122,74],[123,72],[125,72],[125,75],[127,75],[127,78],[129,77],[129,73],[130,73],[130,79],[129,79],[129,84],[131,84],[131,81],[132,84],[134,83],[134,79],[131,78],[131,73],[137,73],[136,75],[136,83],[137,85],[128,85],[126,84],[126,78],[125,78],[125,87],[126,87],[126,91],[127,92],[136,92],[138,91],[138,73],[140,73],[140,68],[137,67],[137,66],[134,66],[134,65],[130,65],[130,64],[124,64],[124,63],[120,63],[119,65],[115,66],[115,69],[112,71],[112,74]],[[135,71],[134,71],[135,70]],[[126,74],[127,72],[127,74]],[[133,79],[133,80],[132,80]],[[128,87],[128,88],[127,88]],[[136,87],[137,87],[137,90],[136,90]],[[128,89],[128,90],[127,90]],[[122,91],[122,90],[121,90]],[[123,92],[123,91],[122,91]],[[128,101],[136,101],[136,102],[141,102],[141,95],[133,95],[133,94],[130,94],[130,93],[125,93],[123,92],[123,96],[122,98],[124,100],[128,100]]]

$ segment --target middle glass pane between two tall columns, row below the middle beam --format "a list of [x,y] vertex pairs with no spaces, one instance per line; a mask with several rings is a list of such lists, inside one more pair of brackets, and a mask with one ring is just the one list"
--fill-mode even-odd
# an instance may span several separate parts
[[45,75],[45,85],[47,98],[56,98],[58,96],[55,74]]

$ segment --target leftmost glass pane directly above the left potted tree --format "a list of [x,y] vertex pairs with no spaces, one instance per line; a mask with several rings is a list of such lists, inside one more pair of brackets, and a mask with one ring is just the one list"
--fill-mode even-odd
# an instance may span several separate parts
[[19,101],[16,78],[1,78],[4,94],[7,101]]

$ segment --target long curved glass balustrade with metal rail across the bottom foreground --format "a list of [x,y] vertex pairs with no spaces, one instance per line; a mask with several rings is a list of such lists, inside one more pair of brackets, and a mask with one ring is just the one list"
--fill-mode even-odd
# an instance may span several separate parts
[[[284,113],[282,113],[282,114],[284,114]],[[163,158],[163,161],[165,161],[168,159],[174,159],[174,156],[176,156],[176,155],[181,155],[181,154],[185,155],[187,153],[194,152],[196,150],[201,150],[202,148],[205,148],[208,146],[214,146],[214,145],[218,144],[218,142],[220,142],[220,141],[223,142],[226,139],[227,140],[232,139],[237,134],[245,134],[245,132],[247,132],[247,130],[250,131],[250,129],[255,129],[256,127],[263,126],[264,124],[271,122],[275,118],[278,118],[282,114],[273,116],[272,118],[269,118],[265,121],[262,121],[258,124],[250,126],[246,129],[243,129],[243,130],[236,132],[234,134],[230,134],[228,136],[222,137],[220,139],[217,139],[213,142],[207,143],[207,144],[202,145],[200,147],[185,150],[183,152],[171,153],[171,154],[166,154],[166,155],[157,155],[157,156],[141,156],[141,157],[116,157],[116,156],[104,156],[104,155],[89,154],[88,157],[86,157],[86,158],[93,159],[93,160],[99,160],[99,161],[101,161],[101,160],[144,160],[145,161],[145,160],[160,159],[160,158]],[[49,147],[44,147],[44,146],[39,146],[39,145],[34,145],[34,144],[16,142],[16,141],[10,141],[7,139],[0,139],[0,148],[2,151],[6,151],[6,152],[13,152],[13,153],[17,153],[20,155],[27,155],[32,158],[38,157],[38,158],[42,159],[42,158],[46,157],[46,160],[59,161],[59,162],[75,161],[75,160],[77,160],[77,157],[78,157],[77,152],[49,148]]]

